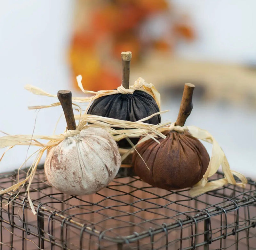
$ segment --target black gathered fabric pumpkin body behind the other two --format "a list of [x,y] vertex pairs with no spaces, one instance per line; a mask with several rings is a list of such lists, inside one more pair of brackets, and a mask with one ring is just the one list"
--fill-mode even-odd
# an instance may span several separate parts
[[[138,121],[159,112],[155,99],[145,91],[135,90],[133,94],[106,95],[96,99],[88,110],[88,114],[100,115],[125,121]],[[155,115],[145,123],[158,124],[160,115]],[[136,144],[139,138],[130,138]],[[119,147],[130,147],[126,139],[118,142]]]

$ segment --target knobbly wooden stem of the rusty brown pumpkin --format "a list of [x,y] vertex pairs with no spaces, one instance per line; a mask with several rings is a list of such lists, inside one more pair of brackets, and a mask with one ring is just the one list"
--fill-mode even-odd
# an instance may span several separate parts
[[183,95],[180,103],[180,111],[175,122],[176,126],[184,126],[188,116],[193,109],[192,96],[195,85],[191,83],[185,83]]

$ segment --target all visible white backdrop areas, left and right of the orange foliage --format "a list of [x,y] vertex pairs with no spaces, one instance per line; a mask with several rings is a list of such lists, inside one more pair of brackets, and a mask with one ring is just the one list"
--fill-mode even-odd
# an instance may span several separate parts
[[[198,31],[198,39],[190,45],[181,44],[178,55],[235,63],[256,60],[256,32],[253,27],[256,23],[253,15],[256,1],[173,2],[184,12],[190,13]],[[0,3],[0,130],[10,134],[31,134],[36,112],[28,111],[27,106],[49,104],[55,100],[34,96],[23,86],[32,84],[50,93],[69,88],[71,79],[67,47],[75,1],[2,0]],[[168,103],[163,107],[168,108]],[[51,134],[60,113],[60,107],[41,110],[37,116],[35,134]],[[202,119],[202,114],[205,114],[205,119]],[[213,105],[195,108],[193,117],[189,118],[189,124],[212,132],[227,153],[232,168],[256,176],[253,165],[255,150],[250,140],[256,139],[256,132],[242,131],[242,125],[255,124],[254,111],[223,109]],[[216,122],[218,119],[221,123]],[[230,128],[223,130],[220,125]],[[64,119],[57,132],[62,132],[63,128]],[[22,146],[9,151],[0,163],[0,171],[19,167],[25,160],[27,150],[28,147]],[[31,149],[29,152],[33,151]],[[0,150],[2,152],[4,150]]]

